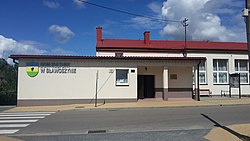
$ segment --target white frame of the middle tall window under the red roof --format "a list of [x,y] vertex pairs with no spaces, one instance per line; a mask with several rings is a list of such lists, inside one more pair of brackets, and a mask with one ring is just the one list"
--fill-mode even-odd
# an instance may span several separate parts
[[[226,70],[219,70],[219,61],[226,61]],[[214,69],[214,61],[216,61],[216,70]],[[214,73],[216,73],[216,82],[214,82]],[[220,82],[220,74],[226,73],[226,81]],[[228,59],[213,59],[213,84],[228,84]]]

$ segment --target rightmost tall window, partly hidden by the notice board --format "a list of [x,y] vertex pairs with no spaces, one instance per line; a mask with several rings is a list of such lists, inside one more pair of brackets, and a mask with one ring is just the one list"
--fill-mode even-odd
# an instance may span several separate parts
[[235,60],[234,70],[240,74],[240,83],[249,83],[248,61],[247,60]]

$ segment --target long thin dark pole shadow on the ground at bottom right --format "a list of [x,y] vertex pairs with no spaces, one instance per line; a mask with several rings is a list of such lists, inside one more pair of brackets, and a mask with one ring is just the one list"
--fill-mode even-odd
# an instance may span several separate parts
[[236,131],[234,131],[234,130],[232,130],[232,129],[226,127],[226,126],[223,126],[223,125],[221,125],[220,123],[216,122],[215,120],[213,120],[212,118],[210,118],[209,116],[207,116],[207,115],[205,115],[205,114],[202,114],[202,113],[201,113],[201,115],[202,115],[203,117],[205,117],[206,119],[210,120],[211,122],[213,122],[213,123],[215,124],[214,126],[220,127],[220,128],[222,128],[222,129],[226,130],[227,132],[229,132],[229,133],[235,135],[236,137],[238,137],[238,138],[241,139],[242,141],[250,141],[250,137],[249,137],[249,136],[242,135],[242,134],[240,134],[240,133],[238,133],[238,132],[236,132]]

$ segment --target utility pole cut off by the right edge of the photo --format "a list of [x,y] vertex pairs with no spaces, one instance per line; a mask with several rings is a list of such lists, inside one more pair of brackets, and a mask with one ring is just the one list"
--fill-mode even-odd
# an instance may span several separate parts
[[243,17],[245,17],[246,22],[246,33],[247,33],[247,48],[248,48],[248,71],[250,72],[250,16],[249,16],[249,10],[250,10],[250,0],[246,0],[246,7],[243,10]]

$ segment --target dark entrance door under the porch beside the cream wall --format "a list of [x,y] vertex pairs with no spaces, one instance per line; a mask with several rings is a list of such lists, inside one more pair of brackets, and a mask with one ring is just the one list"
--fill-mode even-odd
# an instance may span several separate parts
[[154,75],[138,75],[137,77],[137,98],[155,98],[155,76]]

